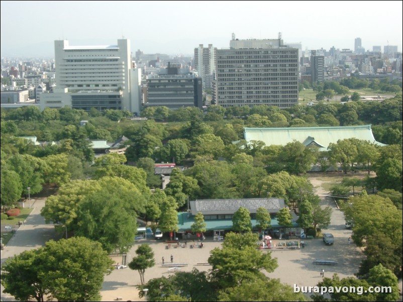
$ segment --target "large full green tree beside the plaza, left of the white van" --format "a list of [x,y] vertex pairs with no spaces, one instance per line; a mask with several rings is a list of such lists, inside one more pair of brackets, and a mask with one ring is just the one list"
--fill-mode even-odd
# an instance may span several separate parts
[[76,234],[96,240],[108,252],[126,252],[133,245],[136,218],[145,212],[145,200],[129,181],[104,177],[100,189],[79,204]]

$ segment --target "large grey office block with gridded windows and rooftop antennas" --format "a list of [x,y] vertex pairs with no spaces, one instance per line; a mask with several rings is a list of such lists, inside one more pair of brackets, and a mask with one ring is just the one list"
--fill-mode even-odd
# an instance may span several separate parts
[[217,50],[217,105],[268,105],[280,108],[298,103],[298,49],[279,39],[236,40]]

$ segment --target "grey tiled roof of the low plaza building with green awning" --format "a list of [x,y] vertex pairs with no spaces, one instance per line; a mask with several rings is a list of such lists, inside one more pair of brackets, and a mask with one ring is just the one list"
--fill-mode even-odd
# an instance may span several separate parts
[[277,213],[285,207],[284,199],[279,198],[242,198],[242,199],[199,199],[190,201],[192,215],[201,212],[209,214],[234,214],[243,207],[250,213],[256,213],[258,208],[265,208],[269,213]]

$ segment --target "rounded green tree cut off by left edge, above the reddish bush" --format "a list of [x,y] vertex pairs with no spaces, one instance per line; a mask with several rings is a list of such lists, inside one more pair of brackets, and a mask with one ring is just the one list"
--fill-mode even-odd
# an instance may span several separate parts
[[21,197],[22,185],[18,174],[10,170],[1,170],[0,200],[3,212],[13,206]]

